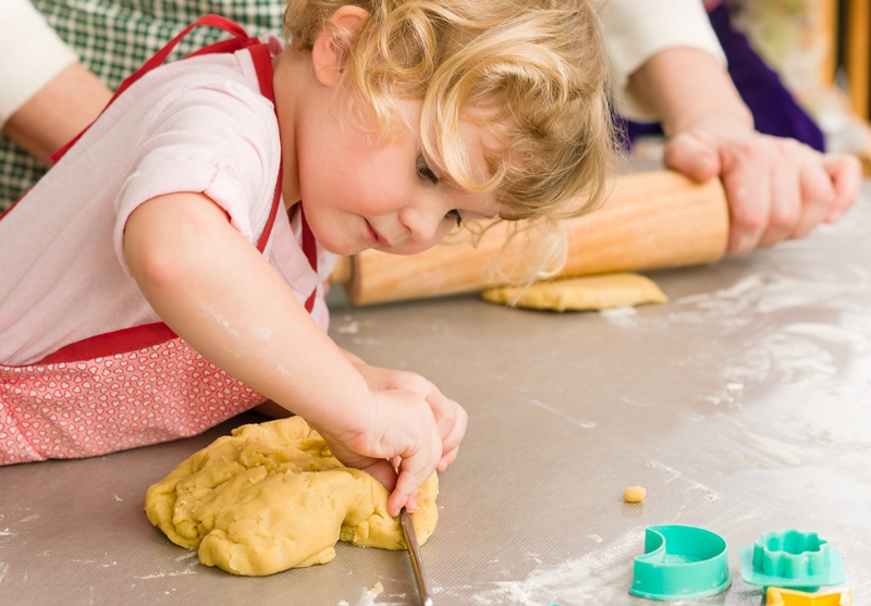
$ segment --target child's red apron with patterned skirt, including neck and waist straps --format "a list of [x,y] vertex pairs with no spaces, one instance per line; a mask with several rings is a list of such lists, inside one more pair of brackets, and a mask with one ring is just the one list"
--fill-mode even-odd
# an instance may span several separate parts
[[[112,101],[161,65],[179,40],[197,25],[220,27],[233,38],[189,57],[249,49],[260,92],[274,106],[268,45],[218,15],[203,17],[185,28],[124,81]],[[77,139],[52,158],[57,161]],[[257,244],[260,252],[282,206],[281,183],[279,170],[272,210]],[[305,215],[302,220],[303,250],[317,271],[315,237]],[[309,312],[314,302],[311,293],[306,301]],[[185,437],[265,399],[204,359],[163,323],[105,333],[70,344],[33,364],[0,364],[0,465],[90,457]]]

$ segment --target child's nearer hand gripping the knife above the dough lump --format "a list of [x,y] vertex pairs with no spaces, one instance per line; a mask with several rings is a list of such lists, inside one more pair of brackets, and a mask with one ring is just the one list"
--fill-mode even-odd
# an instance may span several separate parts
[[[415,509],[417,488],[426,482],[442,455],[441,436],[429,405],[403,389],[373,391],[370,426],[354,435],[335,435],[317,428],[332,454],[348,467],[367,471],[391,491],[388,511]],[[391,460],[398,458],[398,477]]]

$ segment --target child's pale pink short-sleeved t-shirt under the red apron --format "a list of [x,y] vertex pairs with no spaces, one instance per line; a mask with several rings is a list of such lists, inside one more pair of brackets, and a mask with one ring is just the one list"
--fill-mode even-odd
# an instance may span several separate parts
[[[273,54],[281,50],[269,38]],[[0,219],[0,363],[20,366],[77,341],[160,319],[124,261],[123,233],[143,202],[201,191],[256,244],[269,217],[281,147],[272,103],[247,50],[186,59],[127,89]],[[335,257],[302,250],[296,213],[279,210],[265,251],[327,329],[321,283]]]

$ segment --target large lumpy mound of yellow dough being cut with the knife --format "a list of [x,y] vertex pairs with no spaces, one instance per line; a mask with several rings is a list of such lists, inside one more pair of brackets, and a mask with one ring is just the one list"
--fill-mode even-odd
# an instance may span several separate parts
[[[420,544],[438,521],[436,473],[412,514]],[[233,574],[263,576],[326,564],[340,539],[404,549],[388,492],[344,467],[299,417],[243,425],[148,488],[145,511],[176,545]]]

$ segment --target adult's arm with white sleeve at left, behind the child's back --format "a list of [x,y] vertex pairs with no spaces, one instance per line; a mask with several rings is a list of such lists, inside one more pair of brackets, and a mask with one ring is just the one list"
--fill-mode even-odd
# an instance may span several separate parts
[[111,97],[29,0],[0,2],[0,82],[3,135],[45,164]]

